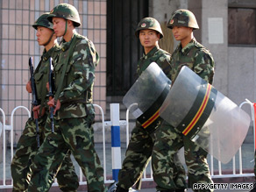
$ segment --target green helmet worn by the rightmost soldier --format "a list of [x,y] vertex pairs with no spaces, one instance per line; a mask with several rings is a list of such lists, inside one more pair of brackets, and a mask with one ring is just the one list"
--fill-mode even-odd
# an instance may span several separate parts
[[195,15],[193,12],[188,10],[174,11],[167,24],[167,27],[173,29],[174,26],[187,26],[193,29],[199,29]]

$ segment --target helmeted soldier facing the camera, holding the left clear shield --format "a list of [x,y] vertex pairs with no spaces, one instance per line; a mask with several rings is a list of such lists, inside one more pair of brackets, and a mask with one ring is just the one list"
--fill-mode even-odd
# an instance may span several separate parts
[[[150,65],[150,63],[156,62],[160,68],[162,68],[164,73],[170,78],[171,55],[160,49],[158,45],[158,40],[163,37],[159,22],[155,18],[143,18],[139,22],[135,35],[139,38],[141,45],[144,47],[144,55],[139,60],[137,74],[141,75],[141,73]],[[132,130],[129,146],[126,150],[126,156],[123,161],[122,169],[118,174],[116,191],[129,191],[129,188],[131,188],[132,185],[134,185],[141,178],[147,162],[151,157],[154,161],[152,167],[154,180],[161,181],[156,179],[154,175],[155,165],[158,164],[158,157],[155,156],[156,153],[154,150],[154,143],[160,139],[156,137],[155,132],[158,130],[162,121],[163,120],[159,117],[156,119],[154,124],[149,125],[146,127],[146,129],[139,124],[138,121],[136,122],[136,126]],[[186,188],[186,173],[178,159],[176,162],[174,162],[172,167],[175,169],[178,177],[176,177],[176,175],[169,175],[169,180],[174,179],[174,183],[176,186],[178,186],[178,188]]]

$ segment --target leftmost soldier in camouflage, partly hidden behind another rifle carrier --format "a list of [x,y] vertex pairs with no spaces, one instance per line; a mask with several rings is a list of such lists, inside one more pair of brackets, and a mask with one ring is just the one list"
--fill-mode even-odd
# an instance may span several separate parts
[[[56,58],[60,52],[60,47],[53,32],[53,24],[47,20],[48,15],[49,13],[42,14],[32,25],[33,28],[37,30],[39,46],[45,46],[39,65],[34,72],[37,99],[40,105],[34,107],[33,110],[39,110],[40,143],[45,137],[44,126],[46,124],[46,117],[48,116],[48,107],[46,105],[46,101],[48,100],[48,97],[46,96],[46,82],[48,82],[49,58]],[[27,83],[26,89],[29,93],[32,92],[31,82]],[[34,114],[37,114],[37,112],[35,111]],[[29,118],[25,124],[25,129],[18,140],[17,150],[11,162],[13,191],[25,191],[28,187],[28,183],[25,180],[29,173],[29,166],[32,163],[32,159],[38,151],[36,138],[37,132],[35,121],[32,118]],[[67,156],[60,167],[57,181],[62,191],[76,191],[78,188],[78,178],[75,174],[75,167],[70,159],[70,155]]]

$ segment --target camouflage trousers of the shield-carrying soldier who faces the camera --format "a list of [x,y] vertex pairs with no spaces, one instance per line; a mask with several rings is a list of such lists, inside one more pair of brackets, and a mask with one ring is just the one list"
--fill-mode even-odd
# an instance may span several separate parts
[[[133,128],[122,169],[118,174],[117,186],[124,189],[131,188],[137,181],[139,181],[148,161],[152,158],[153,179],[156,183],[165,183],[169,186],[169,181],[174,179],[174,184],[178,186],[178,188],[187,187],[186,172],[178,157],[171,167],[169,167],[169,164],[163,167],[164,169],[174,168],[174,172],[176,173],[174,176],[170,174],[166,178],[162,178],[160,174],[154,174],[155,171],[158,171],[156,165],[160,163],[158,160],[159,153],[157,153],[157,149],[155,148],[155,144],[160,138],[156,136],[155,132],[149,134],[138,123]],[[163,175],[166,176],[166,174]]]

